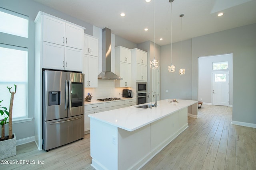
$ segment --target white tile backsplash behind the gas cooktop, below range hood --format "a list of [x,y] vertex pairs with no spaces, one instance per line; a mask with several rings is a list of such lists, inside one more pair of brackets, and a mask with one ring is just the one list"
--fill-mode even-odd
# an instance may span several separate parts
[[92,100],[102,99],[102,98],[122,98],[123,89],[130,88],[116,88],[114,80],[101,80],[98,79],[97,88],[84,88],[84,97],[88,93],[92,94]]

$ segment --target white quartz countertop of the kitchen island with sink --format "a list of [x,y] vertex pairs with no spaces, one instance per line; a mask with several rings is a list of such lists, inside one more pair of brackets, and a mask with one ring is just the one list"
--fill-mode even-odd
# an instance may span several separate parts
[[139,129],[140,127],[143,127],[145,125],[148,125],[149,123],[152,123],[158,119],[170,115],[180,109],[198,103],[198,101],[195,100],[178,100],[178,103],[168,102],[171,100],[172,99],[157,101],[157,107],[152,107],[152,109],[142,109],[136,107],[145,105],[140,104],[136,106],[94,113],[88,116],[91,119],[97,119],[99,121],[108,123],[110,125],[119,127],[127,131],[134,131],[136,129]]

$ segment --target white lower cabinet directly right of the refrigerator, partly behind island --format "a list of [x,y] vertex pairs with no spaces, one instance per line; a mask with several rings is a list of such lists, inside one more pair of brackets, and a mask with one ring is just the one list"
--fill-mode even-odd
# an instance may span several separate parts
[[84,106],[84,131],[90,130],[90,117],[88,115],[93,113],[100,113],[105,111],[105,104],[90,104]]

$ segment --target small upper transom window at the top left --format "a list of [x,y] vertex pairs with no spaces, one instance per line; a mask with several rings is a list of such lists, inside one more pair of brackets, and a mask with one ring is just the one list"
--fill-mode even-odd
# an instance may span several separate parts
[[28,38],[28,16],[0,8],[0,32]]

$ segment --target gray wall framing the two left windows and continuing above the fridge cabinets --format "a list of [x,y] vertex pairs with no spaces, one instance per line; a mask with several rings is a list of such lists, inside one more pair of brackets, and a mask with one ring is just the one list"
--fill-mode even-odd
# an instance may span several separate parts
[[[84,21],[78,20],[62,12],[48,8],[42,4],[34,2],[32,0],[1,0],[0,7],[20,14],[26,15],[29,18],[29,33],[28,39],[23,37],[18,37],[14,35],[9,35],[6,33],[0,33],[0,43],[16,45],[20,47],[28,48],[28,117],[34,117],[34,56],[35,56],[35,23],[34,19],[38,11],[46,12],[53,16],[62,18],[64,20],[76,23],[83,27],[86,27],[85,33],[92,35],[93,26]],[[17,25],[18,29],[18,25]],[[15,99],[14,99],[15,100]],[[8,129],[8,126],[6,126]],[[13,133],[16,134],[16,139],[23,139],[27,137],[33,137],[34,132],[34,120],[15,123],[13,124]]]

